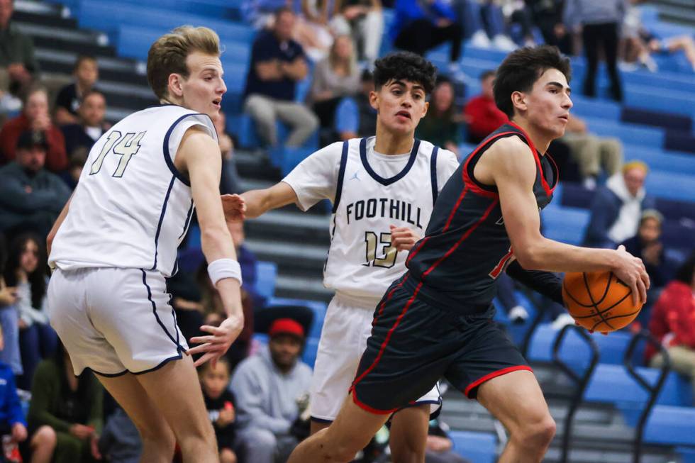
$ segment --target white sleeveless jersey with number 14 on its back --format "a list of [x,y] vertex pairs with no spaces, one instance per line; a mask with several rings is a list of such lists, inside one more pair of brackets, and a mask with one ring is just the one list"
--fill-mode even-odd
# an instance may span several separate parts
[[120,267],[176,272],[193,199],[174,167],[181,139],[211,119],[175,105],[138,111],[113,125],[89,152],[70,210],[53,241],[50,264],[63,270]]

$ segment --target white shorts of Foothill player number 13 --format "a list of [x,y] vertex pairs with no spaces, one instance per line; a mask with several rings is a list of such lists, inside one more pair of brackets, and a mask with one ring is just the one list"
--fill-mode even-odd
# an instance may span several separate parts
[[[311,379],[312,420],[328,423],[338,416],[372,333],[373,316],[373,306],[358,307],[341,296],[328,304]],[[438,411],[442,404],[438,386],[413,405],[423,403],[431,404],[430,413]]]

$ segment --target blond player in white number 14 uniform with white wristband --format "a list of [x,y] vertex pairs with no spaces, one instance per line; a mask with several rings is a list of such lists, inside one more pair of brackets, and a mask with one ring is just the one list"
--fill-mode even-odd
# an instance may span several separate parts
[[[138,427],[140,462],[218,462],[190,355],[215,362],[243,327],[240,271],[223,216],[221,154],[211,116],[226,91],[219,39],[184,26],[157,39],[148,80],[162,106],[113,125],[89,153],[48,237],[51,325],[75,374],[92,369]],[[191,342],[179,333],[165,277],[194,204],[208,272],[228,318]]]

